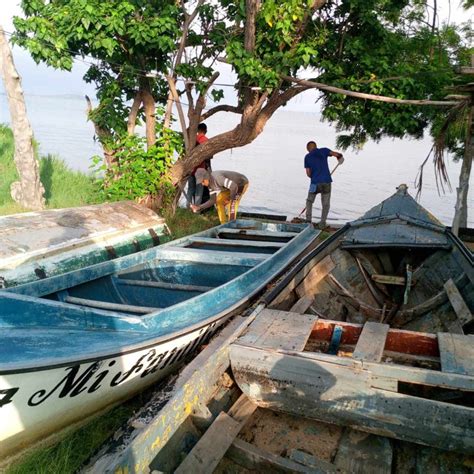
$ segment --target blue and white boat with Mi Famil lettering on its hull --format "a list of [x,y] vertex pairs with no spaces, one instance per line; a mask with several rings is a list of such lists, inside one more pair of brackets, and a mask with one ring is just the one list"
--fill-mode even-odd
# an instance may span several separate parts
[[0,291],[0,458],[164,377],[317,235],[238,220]]

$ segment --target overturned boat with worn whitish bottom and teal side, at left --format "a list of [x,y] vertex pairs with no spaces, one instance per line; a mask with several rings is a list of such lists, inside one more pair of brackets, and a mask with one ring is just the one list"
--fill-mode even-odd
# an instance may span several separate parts
[[60,275],[170,240],[165,220],[133,201],[0,217],[0,288]]

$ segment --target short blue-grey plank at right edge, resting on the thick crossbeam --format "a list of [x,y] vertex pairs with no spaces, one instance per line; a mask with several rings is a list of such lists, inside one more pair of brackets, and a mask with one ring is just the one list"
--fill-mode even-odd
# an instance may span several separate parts
[[474,336],[438,333],[443,372],[474,376]]

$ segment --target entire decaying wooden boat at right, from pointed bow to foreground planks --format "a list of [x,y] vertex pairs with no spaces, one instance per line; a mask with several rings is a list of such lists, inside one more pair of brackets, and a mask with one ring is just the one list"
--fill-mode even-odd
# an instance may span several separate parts
[[472,269],[400,188],[296,263],[84,472],[470,472]]

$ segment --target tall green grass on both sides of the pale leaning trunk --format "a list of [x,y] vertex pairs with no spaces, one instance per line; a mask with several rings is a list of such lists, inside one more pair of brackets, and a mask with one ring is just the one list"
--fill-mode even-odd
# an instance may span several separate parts
[[[10,196],[10,186],[18,179],[13,153],[12,131],[0,125],[0,215],[26,211]],[[100,199],[93,177],[71,170],[54,156],[40,158],[40,177],[48,208],[84,206]]]

